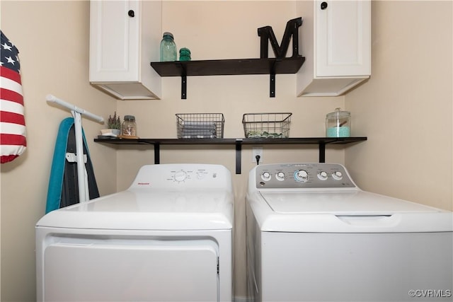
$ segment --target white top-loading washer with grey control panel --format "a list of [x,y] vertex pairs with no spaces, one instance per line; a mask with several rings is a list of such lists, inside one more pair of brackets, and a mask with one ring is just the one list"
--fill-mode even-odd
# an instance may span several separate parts
[[258,165],[251,301],[452,301],[452,212],[360,190],[343,165]]

